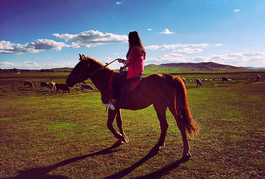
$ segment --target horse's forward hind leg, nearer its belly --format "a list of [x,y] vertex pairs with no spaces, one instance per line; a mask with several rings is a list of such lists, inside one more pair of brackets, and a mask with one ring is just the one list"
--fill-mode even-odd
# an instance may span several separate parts
[[157,117],[159,119],[161,134],[157,144],[155,145],[155,147],[153,147],[152,151],[159,151],[160,147],[165,146],[166,131],[168,129],[168,120],[166,119],[166,107],[158,107],[155,105],[154,107],[155,111],[157,112]]

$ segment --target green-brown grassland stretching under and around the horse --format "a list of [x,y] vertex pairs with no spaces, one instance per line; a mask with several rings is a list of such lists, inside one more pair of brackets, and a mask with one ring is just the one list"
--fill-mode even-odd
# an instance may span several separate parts
[[[63,83],[67,73],[1,75],[0,178],[265,178],[265,82],[255,82],[253,72],[179,74],[200,128],[187,162],[179,160],[181,136],[170,112],[158,154],[148,155],[160,134],[153,107],[123,110],[130,143],[108,149],[116,140],[99,92],[40,89],[40,82]],[[222,76],[231,80],[222,83]]]

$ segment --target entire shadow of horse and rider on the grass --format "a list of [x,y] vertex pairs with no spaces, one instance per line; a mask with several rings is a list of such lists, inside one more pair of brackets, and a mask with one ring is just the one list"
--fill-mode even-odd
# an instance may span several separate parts
[[[75,157],[75,158],[70,158],[68,160],[63,160],[62,162],[59,162],[59,163],[52,165],[52,166],[49,166],[49,167],[39,167],[39,168],[35,168],[35,169],[27,169],[25,171],[19,171],[18,176],[14,176],[14,177],[10,177],[10,178],[14,178],[14,179],[18,179],[18,178],[48,178],[48,179],[50,179],[50,178],[61,178],[61,179],[67,179],[68,178],[67,176],[48,176],[46,174],[52,170],[55,170],[55,169],[62,167],[64,165],[69,165],[70,163],[76,162],[78,160],[83,160],[85,158],[92,157],[92,156],[111,154],[115,151],[118,151],[118,149],[116,149],[116,148],[119,147],[119,145],[121,145],[121,144],[115,143],[111,147],[108,147],[108,148],[103,149],[101,151],[97,151],[93,154],[88,154],[85,156],[79,156],[79,157]],[[127,176],[130,172],[132,172],[137,167],[141,166],[144,162],[146,162],[150,158],[153,158],[153,156],[155,156],[155,155],[157,155],[157,152],[153,152],[151,150],[146,156],[144,156],[144,158],[141,158],[141,160],[136,162],[134,165],[132,165],[126,169],[123,169],[123,170],[121,170],[115,174],[112,174],[111,176],[108,176],[106,178],[122,178],[124,176]],[[161,176],[164,176],[165,174],[167,174],[171,170],[179,167],[179,165],[182,162],[186,162],[187,160],[188,159],[181,158],[177,162],[173,162],[172,164],[167,165],[166,167],[159,169],[158,171],[154,171],[153,173],[149,173],[146,176],[140,176],[138,178],[160,178]],[[5,179],[9,179],[9,178],[5,178]]]

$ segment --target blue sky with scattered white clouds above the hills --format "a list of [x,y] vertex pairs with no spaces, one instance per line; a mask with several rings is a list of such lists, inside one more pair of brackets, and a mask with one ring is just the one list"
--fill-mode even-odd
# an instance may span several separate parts
[[0,0],[0,67],[74,67],[79,53],[125,59],[132,30],[146,48],[144,65],[265,67],[263,0]]

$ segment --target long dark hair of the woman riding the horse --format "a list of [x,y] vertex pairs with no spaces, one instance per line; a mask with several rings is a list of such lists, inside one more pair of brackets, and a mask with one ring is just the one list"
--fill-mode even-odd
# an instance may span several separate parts
[[144,50],[144,45],[141,43],[141,39],[139,37],[138,32],[136,31],[131,31],[129,33],[129,50],[126,54],[126,58],[129,58],[130,50],[133,48],[134,45],[137,45],[137,48],[141,50],[144,54],[144,60],[146,59],[146,50]]

